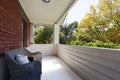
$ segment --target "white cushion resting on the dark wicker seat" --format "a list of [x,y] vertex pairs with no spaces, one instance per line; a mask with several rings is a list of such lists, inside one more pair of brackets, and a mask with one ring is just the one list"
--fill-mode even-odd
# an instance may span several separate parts
[[18,62],[18,64],[26,64],[26,63],[30,62],[28,60],[28,56],[25,56],[25,55],[16,54],[15,58],[16,58],[16,61]]

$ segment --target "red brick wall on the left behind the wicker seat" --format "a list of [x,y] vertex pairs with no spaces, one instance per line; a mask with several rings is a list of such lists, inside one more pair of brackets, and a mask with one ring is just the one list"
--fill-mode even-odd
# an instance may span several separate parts
[[22,47],[20,4],[18,0],[0,0],[0,54],[18,47]]

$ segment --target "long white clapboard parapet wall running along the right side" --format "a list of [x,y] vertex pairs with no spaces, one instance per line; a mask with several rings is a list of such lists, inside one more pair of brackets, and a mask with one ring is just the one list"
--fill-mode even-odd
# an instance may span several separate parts
[[120,80],[120,50],[58,45],[58,56],[84,80]]

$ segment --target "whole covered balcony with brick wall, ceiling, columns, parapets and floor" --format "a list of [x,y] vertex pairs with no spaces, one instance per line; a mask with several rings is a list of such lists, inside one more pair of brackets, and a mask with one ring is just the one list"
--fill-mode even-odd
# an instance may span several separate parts
[[[41,80],[120,80],[120,50],[59,44],[59,25],[76,1],[0,0],[0,80],[4,51],[19,47],[42,53]],[[35,25],[54,25],[54,43],[31,44]]]

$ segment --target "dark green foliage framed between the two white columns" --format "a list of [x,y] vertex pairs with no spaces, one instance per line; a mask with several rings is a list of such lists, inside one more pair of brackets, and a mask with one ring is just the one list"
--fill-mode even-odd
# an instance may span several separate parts
[[52,34],[53,34],[53,28],[42,26],[42,27],[36,27],[35,29],[35,36],[34,36],[34,42],[35,44],[50,44],[52,43]]

